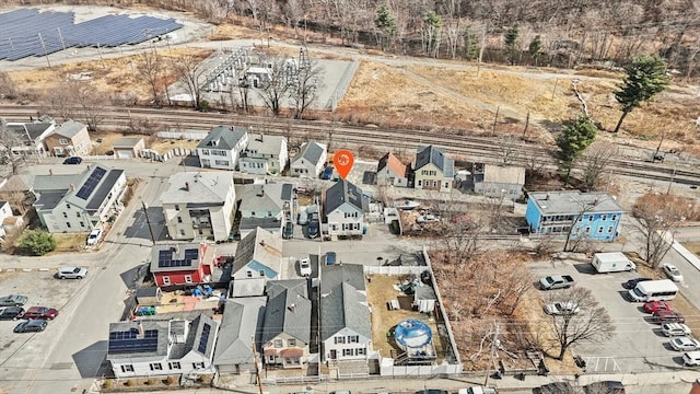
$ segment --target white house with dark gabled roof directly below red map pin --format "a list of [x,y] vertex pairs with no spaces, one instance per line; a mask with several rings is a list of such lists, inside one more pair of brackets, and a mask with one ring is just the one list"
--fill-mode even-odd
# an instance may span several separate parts
[[326,189],[324,213],[328,222],[328,235],[362,235],[365,211],[368,200],[362,195],[362,189],[353,183],[339,179]]

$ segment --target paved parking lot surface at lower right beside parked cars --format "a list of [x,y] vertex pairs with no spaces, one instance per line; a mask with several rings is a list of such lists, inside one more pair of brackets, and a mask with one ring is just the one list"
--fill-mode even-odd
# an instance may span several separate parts
[[[681,352],[670,349],[661,326],[648,322],[641,303],[628,302],[622,282],[635,278],[635,273],[593,274],[593,267],[581,262],[542,262],[530,265],[537,279],[548,275],[571,275],[576,286],[593,291],[615,325],[615,335],[604,344],[581,343],[573,352],[587,361],[587,373],[658,372],[682,367]],[[559,291],[559,290],[552,290]]]

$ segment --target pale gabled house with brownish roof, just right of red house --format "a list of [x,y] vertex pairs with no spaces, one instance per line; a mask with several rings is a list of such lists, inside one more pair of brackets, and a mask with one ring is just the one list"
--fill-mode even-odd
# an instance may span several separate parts
[[231,270],[232,279],[281,279],[281,271],[282,239],[257,228],[238,242]]

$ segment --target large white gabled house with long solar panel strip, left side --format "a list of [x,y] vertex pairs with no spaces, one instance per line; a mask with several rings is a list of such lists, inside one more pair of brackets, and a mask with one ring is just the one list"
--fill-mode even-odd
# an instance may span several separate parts
[[51,233],[90,232],[124,207],[124,170],[89,165],[81,174],[36,175],[34,202],[42,224]]

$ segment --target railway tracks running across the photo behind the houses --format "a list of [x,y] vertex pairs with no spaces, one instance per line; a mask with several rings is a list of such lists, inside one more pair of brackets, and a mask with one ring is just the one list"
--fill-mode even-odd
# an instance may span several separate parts
[[[27,121],[40,114],[42,107],[34,105],[0,105],[0,116],[8,120]],[[312,137],[330,140],[331,144],[364,146],[377,150],[405,149],[412,151],[419,144],[445,147],[452,154],[466,155],[486,162],[501,162],[505,152],[513,154],[514,163],[525,164],[537,160],[548,166],[558,164],[555,150],[523,141],[508,141],[490,137],[465,136],[429,130],[387,129],[375,126],[353,126],[325,120],[296,120],[246,116],[223,113],[196,113],[190,109],[105,107],[101,127],[116,131],[128,131],[135,126],[159,130],[177,129],[208,131],[219,125],[246,127],[255,132],[287,137]],[[674,182],[700,186],[700,171],[687,166],[669,166],[640,160],[616,158],[608,170],[616,175]]]

